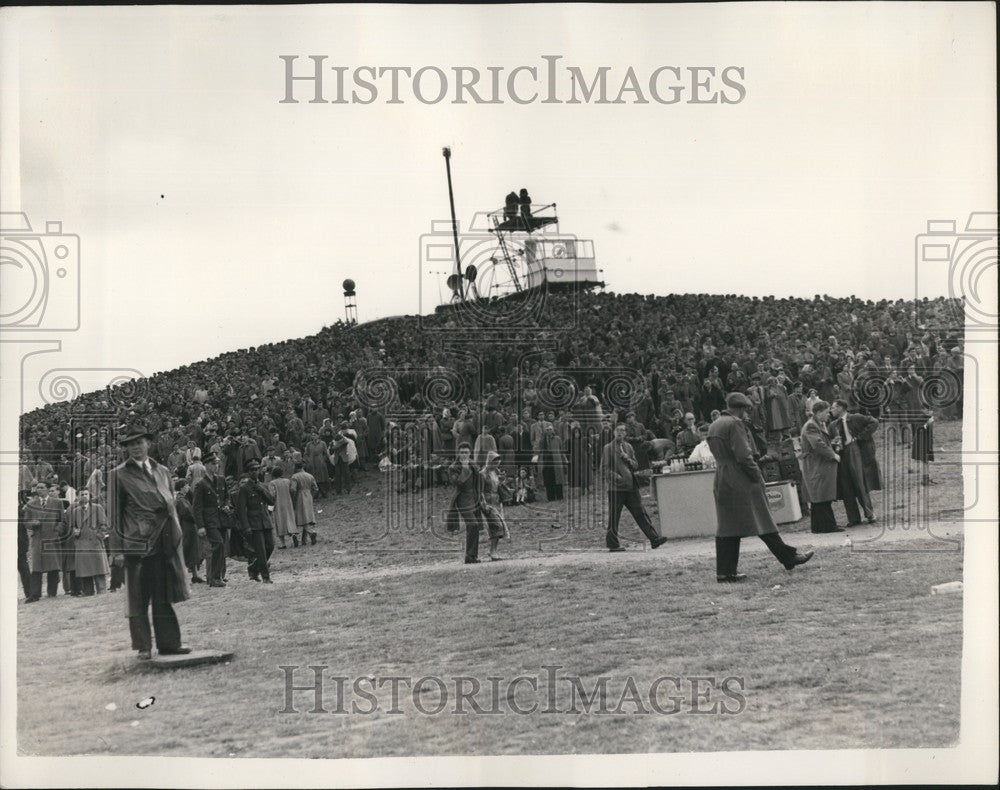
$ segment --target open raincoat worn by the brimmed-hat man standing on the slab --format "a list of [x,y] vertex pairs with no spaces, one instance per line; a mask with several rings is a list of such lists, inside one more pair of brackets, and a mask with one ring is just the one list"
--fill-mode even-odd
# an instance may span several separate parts
[[[151,477],[131,459],[116,466],[108,475],[111,553],[145,557],[158,550],[166,551],[167,599],[178,603],[191,597],[184,565],[184,534],[177,518],[170,472],[153,459],[149,459],[149,465]],[[141,574],[140,564],[125,564],[128,592],[125,605],[129,617],[146,616]]]

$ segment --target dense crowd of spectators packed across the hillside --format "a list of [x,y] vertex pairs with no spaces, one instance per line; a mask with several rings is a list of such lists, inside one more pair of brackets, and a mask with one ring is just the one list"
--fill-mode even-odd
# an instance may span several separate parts
[[[461,308],[338,323],[23,415],[26,598],[41,596],[45,574],[54,595],[60,572],[71,595],[100,591],[108,575],[110,589],[121,586],[109,499],[127,457],[124,425],[141,427],[166,470],[187,573],[200,581],[204,564],[216,587],[226,554],[267,581],[275,546],[314,545],[314,498],[351,495],[366,471],[400,491],[468,488],[456,464],[471,464],[489,477],[495,505],[558,501],[598,486],[616,430],[639,470],[710,458],[709,425],[740,393],[757,459],[812,435],[816,415],[825,420],[816,407],[839,403],[835,411],[898,422],[927,479],[934,417],[961,417],[961,331],[921,328],[912,301],[584,291],[540,304],[506,335],[477,333]],[[919,308],[931,319],[957,314],[945,299]],[[242,537],[222,541],[212,518]],[[506,529],[494,522],[491,556]]]

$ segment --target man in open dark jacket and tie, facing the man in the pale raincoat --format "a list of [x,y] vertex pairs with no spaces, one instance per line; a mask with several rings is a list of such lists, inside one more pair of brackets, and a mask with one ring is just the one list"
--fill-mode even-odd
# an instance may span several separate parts
[[[835,400],[830,406],[833,419],[829,428],[835,436],[835,449],[840,455],[837,466],[837,494],[847,511],[847,526],[861,523],[861,511],[869,524],[875,523],[875,510],[869,491],[879,491],[882,479],[875,457],[872,434],[878,420],[867,414],[848,414],[847,401]],[[861,505],[861,510],[858,505]]]

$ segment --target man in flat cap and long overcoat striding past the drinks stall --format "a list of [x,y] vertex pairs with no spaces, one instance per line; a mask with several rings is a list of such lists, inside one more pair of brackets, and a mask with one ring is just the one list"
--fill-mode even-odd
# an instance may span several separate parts
[[717,464],[715,573],[720,583],[746,580],[746,574],[736,571],[741,538],[757,535],[788,570],[813,556],[811,551],[799,553],[781,539],[767,507],[764,476],[753,460],[753,439],[744,423],[753,402],[743,393],[731,392],[726,407],[708,429],[708,446]]

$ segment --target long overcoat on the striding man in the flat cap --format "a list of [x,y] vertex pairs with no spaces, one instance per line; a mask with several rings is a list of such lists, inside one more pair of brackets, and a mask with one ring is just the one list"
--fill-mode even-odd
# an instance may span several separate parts
[[753,460],[753,438],[743,420],[722,412],[709,426],[708,447],[716,463],[716,535],[745,538],[777,532],[767,506],[764,475]]

